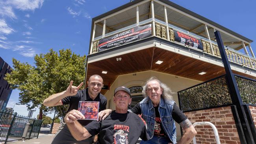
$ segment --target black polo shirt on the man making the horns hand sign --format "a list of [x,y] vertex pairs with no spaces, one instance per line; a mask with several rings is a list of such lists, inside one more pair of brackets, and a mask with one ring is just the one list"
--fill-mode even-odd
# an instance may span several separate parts
[[[107,98],[103,95],[103,94],[98,94],[98,96],[92,100],[89,97],[89,93],[88,93],[88,88],[87,89],[83,89],[83,90],[78,90],[77,94],[75,96],[67,96],[66,98],[63,98],[61,100],[63,105],[67,105],[69,104],[69,110],[67,111],[67,113],[73,109],[78,110],[78,104],[79,101],[92,101],[92,102],[100,102],[100,109],[99,111],[102,111],[104,109],[106,109],[107,106]],[[82,125],[83,123],[85,124],[85,120],[78,120]],[[88,122],[86,122],[88,123]],[[83,125],[85,126],[85,125]]]

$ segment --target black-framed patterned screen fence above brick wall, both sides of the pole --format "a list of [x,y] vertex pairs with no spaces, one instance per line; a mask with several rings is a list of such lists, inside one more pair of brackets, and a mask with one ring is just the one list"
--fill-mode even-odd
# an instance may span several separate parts
[[[256,81],[235,75],[244,104],[256,106]],[[180,109],[183,112],[232,105],[226,75],[205,81],[178,92]]]

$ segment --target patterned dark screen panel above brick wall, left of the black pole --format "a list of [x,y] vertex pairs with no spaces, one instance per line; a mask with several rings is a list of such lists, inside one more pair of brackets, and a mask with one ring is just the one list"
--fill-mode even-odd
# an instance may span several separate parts
[[224,76],[180,91],[178,94],[182,111],[204,109],[232,103]]

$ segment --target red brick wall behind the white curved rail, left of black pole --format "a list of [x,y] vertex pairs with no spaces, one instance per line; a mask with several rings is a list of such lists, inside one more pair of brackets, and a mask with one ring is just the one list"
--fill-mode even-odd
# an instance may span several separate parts
[[[192,123],[211,122],[214,124],[218,130],[221,144],[240,144],[230,106],[191,111],[184,114]],[[197,130],[197,144],[216,144],[211,126],[200,125],[195,126],[195,129]]]

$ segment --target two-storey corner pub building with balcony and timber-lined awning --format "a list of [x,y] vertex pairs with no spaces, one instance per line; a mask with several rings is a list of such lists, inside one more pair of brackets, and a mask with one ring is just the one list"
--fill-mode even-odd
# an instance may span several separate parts
[[[130,88],[132,107],[143,99],[145,81],[156,76],[171,87],[174,101],[191,122],[208,121],[217,127],[221,143],[251,142],[245,140],[246,133],[236,120],[215,31],[221,33],[240,93],[246,93],[243,102],[254,111],[256,59],[252,40],[169,0],[134,0],[93,18],[85,80],[93,74],[102,76],[108,86],[102,89],[107,107],[114,109],[116,87]],[[244,53],[238,52],[240,49]],[[256,125],[253,113],[250,135]],[[179,139],[182,130],[178,124],[176,127]],[[215,142],[208,126],[195,128],[198,143]]]

